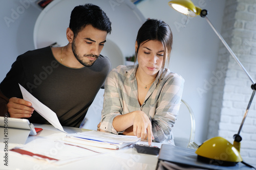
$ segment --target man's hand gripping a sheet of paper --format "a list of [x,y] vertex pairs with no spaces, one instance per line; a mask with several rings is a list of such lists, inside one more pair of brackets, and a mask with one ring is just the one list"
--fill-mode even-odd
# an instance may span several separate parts
[[34,108],[31,107],[31,103],[23,99],[11,98],[7,104],[10,117],[23,118],[31,117]]

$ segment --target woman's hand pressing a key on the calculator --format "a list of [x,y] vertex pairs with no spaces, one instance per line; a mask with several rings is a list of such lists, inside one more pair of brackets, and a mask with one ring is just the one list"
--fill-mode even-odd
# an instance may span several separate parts
[[154,139],[151,121],[142,111],[137,112],[134,116],[133,133],[141,139],[145,139],[147,136],[148,145],[151,145],[152,139]]

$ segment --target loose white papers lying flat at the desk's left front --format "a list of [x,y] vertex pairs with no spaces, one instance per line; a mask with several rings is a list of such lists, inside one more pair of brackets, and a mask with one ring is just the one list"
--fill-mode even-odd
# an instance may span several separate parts
[[[59,142],[63,137],[63,133],[52,134],[44,138],[36,138],[33,141],[17,147],[19,149],[32,152],[34,154],[40,154],[42,156],[47,156],[57,160],[49,160],[47,158],[41,158],[36,156],[28,156],[21,155],[15,152],[9,152],[11,155],[19,155],[24,158],[39,160],[44,165],[53,164],[53,165],[63,165],[67,163],[72,163],[74,161],[79,161],[81,159],[91,158],[92,156],[101,155],[103,153],[99,153],[93,151],[92,149],[81,148],[69,144],[65,144],[63,142]],[[1,151],[0,151],[1,153]],[[49,164],[48,164],[49,163]],[[44,169],[43,167],[40,169]],[[60,168],[61,169],[61,168]]]

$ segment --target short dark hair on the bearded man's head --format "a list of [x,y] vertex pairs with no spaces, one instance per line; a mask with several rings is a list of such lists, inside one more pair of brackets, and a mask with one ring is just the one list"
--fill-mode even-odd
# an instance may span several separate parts
[[76,6],[70,16],[69,28],[73,31],[74,37],[87,25],[111,33],[111,22],[105,12],[96,5],[85,4]]

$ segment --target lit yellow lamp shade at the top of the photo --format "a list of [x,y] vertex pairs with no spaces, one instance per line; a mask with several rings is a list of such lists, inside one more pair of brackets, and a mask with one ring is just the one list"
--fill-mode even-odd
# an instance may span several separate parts
[[176,11],[188,16],[197,16],[201,12],[201,9],[196,7],[190,0],[172,0],[168,4]]

